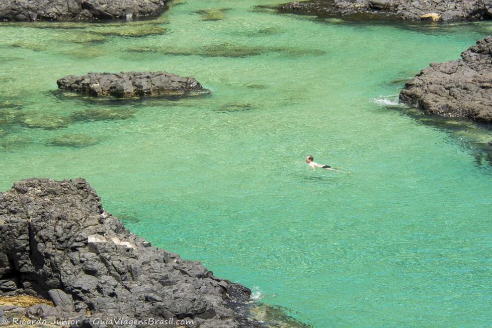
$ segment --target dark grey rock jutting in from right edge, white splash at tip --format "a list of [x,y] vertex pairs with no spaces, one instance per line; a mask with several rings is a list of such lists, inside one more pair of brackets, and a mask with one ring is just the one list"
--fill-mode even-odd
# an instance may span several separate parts
[[460,60],[430,64],[405,84],[400,100],[429,114],[492,123],[492,37]]

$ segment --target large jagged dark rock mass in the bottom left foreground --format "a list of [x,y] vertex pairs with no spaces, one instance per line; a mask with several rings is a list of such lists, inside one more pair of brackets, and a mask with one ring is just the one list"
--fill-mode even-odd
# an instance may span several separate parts
[[[33,178],[0,193],[0,296],[28,294],[54,305],[3,306],[0,317],[73,319],[71,327],[124,326],[116,320],[147,327],[138,320],[150,318],[153,327],[178,320],[259,327],[238,312],[250,293],[130,233],[82,178]],[[101,318],[114,321],[94,323]]]

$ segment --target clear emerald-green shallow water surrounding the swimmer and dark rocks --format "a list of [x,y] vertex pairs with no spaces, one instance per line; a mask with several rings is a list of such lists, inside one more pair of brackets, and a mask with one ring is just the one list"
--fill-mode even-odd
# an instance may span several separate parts
[[[374,99],[398,94],[394,79],[458,58],[492,25],[253,10],[273,3],[189,0],[165,13],[165,34],[138,38],[0,26],[0,190],[83,176],[133,232],[315,327],[491,326],[492,175],[473,146],[490,133],[449,132]],[[231,10],[218,21],[193,13],[208,7]],[[96,42],[73,42],[89,36]],[[214,57],[210,46],[225,42],[254,56]],[[193,75],[213,92],[51,92],[67,74],[129,70]],[[126,119],[73,120],[87,109],[124,109]],[[96,144],[53,145],[71,134]],[[352,174],[311,171],[307,155]]]

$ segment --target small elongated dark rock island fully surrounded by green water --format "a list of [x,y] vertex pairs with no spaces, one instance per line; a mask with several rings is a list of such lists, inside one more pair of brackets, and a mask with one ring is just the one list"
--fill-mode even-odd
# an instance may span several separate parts
[[134,97],[144,95],[183,94],[203,90],[193,77],[180,77],[167,72],[88,73],[69,75],[57,81],[63,90],[92,96]]

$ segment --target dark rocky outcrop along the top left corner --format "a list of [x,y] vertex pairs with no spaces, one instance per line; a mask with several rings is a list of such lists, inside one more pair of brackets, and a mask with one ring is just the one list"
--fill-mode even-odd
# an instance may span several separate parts
[[113,19],[156,16],[167,0],[2,0],[0,20]]

